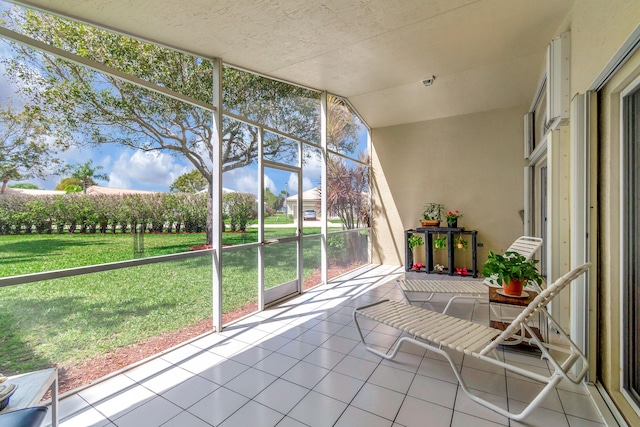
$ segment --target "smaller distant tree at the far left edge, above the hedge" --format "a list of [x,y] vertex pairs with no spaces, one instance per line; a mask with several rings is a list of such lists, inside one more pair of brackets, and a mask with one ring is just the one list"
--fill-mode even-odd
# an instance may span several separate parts
[[50,127],[41,113],[32,106],[20,112],[11,106],[0,110],[0,194],[10,180],[43,178],[54,172],[58,159],[55,146],[46,142]]

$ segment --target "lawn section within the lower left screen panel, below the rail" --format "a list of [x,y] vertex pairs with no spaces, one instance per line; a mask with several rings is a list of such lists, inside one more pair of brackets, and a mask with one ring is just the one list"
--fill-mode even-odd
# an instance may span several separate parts
[[211,312],[205,257],[2,288],[0,367],[73,365]]

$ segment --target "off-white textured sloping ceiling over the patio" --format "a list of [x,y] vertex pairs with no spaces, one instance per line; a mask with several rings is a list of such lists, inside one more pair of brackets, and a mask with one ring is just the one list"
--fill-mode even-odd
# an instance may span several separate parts
[[19,3],[345,96],[383,127],[528,105],[573,0]]

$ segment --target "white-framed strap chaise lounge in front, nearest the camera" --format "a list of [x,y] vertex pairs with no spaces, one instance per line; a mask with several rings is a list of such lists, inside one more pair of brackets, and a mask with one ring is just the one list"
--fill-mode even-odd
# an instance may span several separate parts
[[[524,310],[509,324],[504,331],[490,326],[480,325],[457,317],[437,313],[397,301],[380,301],[375,304],[356,308],[353,318],[360,334],[362,343],[370,352],[385,358],[393,359],[405,342],[410,342],[443,356],[451,365],[462,390],[473,401],[514,420],[522,420],[531,414],[544,397],[563,379],[578,384],[584,378],[588,369],[588,361],[578,346],[569,338],[562,327],[551,317],[545,309],[546,305],[572,280],[584,273],[590,266],[586,263],[571,270],[542,291]],[[560,338],[567,346],[544,343],[529,326],[529,321],[535,315],[546,317],[555,327]],[[410,336],[403,336],[390,352],[384,353],[369,346],[362,334],[358,318],[363,317],[375,322],[383,323],[402,331]],[[539,374],[526,367],[516,366],[498,357],[496,348],[516,338],[536,346],[542,352],[542,358],[551,364],[553,373],[549,376]],[[476,357],[487,363],[500,366],[507,371],[544,384],[542,390],[519,414],[509,412],[471,392],[464,382],[461,369],[458,369],[447,350],[463,353],[465,356]],[[566,355],[564,360],[562,355]],[[581,362],[578,363],[578,362]],[[572,373],[574,366],[577,373]]]

